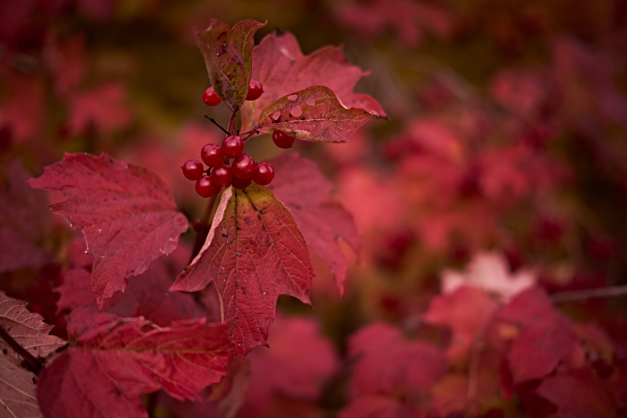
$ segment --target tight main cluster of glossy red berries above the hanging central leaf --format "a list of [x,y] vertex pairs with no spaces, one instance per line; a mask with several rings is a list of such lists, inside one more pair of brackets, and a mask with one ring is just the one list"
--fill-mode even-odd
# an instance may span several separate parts
[[[270,164],[255,164],[255,160],[244,152],[244,141],[239,135],[224,138],[222,147],[205,145],[200,157],[209,169],[204,170],[203,163],[198,160],[187,161],[181,169],[187,179],[196,180],[196,192],[203,197],[214,196],[229,184],[241,190],[246,189],[252,180],[266,185],[274,178],[274,169]],[[233,163],[228,165],[226,159],[231,158],[234,158]]]

